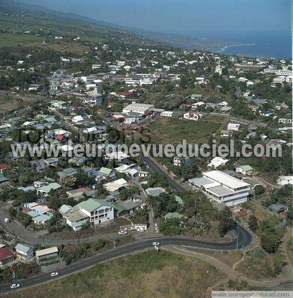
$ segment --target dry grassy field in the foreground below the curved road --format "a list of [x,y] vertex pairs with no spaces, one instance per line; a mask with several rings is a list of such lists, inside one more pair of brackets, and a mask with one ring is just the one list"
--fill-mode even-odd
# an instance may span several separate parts
[[193,257],[146,251],[20,291],[14,297],[192,297],[204,298],[209,286],[226,276]]

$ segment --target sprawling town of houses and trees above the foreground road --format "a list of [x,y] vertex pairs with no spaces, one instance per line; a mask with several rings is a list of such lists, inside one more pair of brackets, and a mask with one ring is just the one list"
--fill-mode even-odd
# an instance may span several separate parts
[[[225,243],[235,223],[268,258],[277,254],[293,220],[292,60],[43,38],[88,50],[0,52],[1,102],[16,105],[0,110],[1,281],[57,272],[148,237]],[[232,140],[238,151],[274,145],[282,157],[106,152],[108,144],[183,139],[229,148]],[[72,155],[78,144],[102,154]],[[13,154],[27,145],[41,155]],[[49,156],[49,147],[59,154]]]

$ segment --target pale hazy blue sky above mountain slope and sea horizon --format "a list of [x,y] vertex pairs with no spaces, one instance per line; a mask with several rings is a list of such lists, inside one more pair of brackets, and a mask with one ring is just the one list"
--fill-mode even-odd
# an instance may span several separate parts
[[146,30],[289,31],[291,0],[15,0]]

